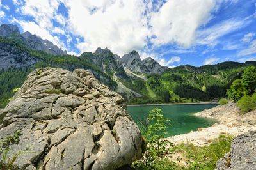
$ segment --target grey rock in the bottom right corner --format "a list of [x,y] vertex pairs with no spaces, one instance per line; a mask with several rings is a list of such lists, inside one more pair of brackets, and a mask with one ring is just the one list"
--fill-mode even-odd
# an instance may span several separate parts
[[218,160],[216,169],[256,169],[256,131],[237,136],[230,153]]

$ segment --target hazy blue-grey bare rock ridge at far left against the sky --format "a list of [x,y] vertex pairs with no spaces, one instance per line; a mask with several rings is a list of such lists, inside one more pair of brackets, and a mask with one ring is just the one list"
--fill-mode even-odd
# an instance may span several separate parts
[[32,35],[29,32],[20,34],[19,28],[13,24],[1,25],[0,36],[22,43],[33,50],[40,50],[53,55],[67,55],[66,51],[61,50],[48,40],[42,40],[39,36]]

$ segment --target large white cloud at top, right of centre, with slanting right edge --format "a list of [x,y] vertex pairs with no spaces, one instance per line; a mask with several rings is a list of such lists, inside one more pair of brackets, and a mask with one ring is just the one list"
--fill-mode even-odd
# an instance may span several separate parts
[[152,39],[155,45],[178,43],[185,47],[195,42],[196,30],[211,18],[214,0],[167,1],[159,12],[152,14]]

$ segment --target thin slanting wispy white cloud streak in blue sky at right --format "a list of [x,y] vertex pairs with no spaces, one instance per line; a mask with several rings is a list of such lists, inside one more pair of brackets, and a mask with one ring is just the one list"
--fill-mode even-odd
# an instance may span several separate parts
[[217,45],[218,38],[221,38],[232,31],[247,25],[246,20],[225,20],[207,29],[198,30],[197,42],[199,45],[209,45],[214,47]]

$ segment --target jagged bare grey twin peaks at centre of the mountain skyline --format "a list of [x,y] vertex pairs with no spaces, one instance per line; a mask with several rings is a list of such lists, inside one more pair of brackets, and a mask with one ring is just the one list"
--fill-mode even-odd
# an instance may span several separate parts
[[146,58],[141,61],[140,55],[136,51],[132,51],[129,54],[125,54],[121,61],[125,68],[131,70],[131,72],[138,74],[161,74],[168,70],[167,67],[159,65],[154,59]]

